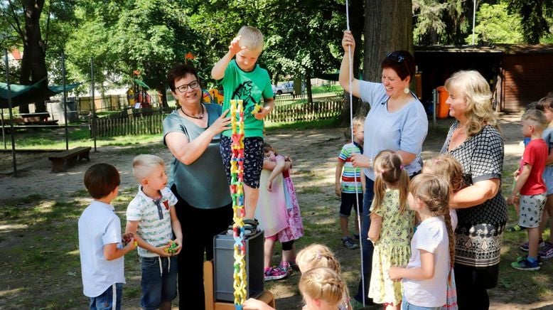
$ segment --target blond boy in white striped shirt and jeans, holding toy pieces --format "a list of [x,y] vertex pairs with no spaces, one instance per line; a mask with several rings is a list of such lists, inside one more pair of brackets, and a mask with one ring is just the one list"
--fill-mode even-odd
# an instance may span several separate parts
[[[167,188],[163,159],[139,155],[132,161],[132,173],[140,184],[138,194],[127,207],[127,233],[138,242],[141,263],[142,309],[171,309],[177,296],[177,257],[183,244],[177,198]],[[173,232],[176,236],[173,239]],[[172,246],[171,246],[172,245]]]

